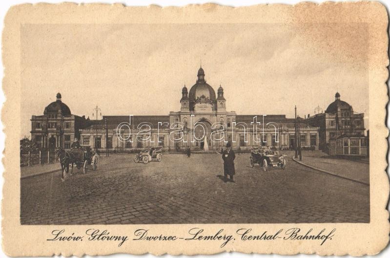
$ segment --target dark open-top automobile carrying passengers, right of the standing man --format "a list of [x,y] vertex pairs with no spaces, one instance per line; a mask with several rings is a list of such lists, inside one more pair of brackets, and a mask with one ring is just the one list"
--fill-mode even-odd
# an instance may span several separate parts
[[279,151],[270,149],[252,150],[250,155],[250,165],[253,168],[254,164],[258,164],[265,172],[269,167],[286,168],[287,155],[279,154]]

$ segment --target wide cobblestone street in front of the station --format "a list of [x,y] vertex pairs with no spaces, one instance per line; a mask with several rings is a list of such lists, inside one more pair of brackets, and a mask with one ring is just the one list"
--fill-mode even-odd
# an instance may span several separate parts
[[369,222],[369,186],[318,172],[288,157],[287,169],[250,167],[237,154],[224,183],[218,154],[102,158],[97,171],[21,179],[21,224]]

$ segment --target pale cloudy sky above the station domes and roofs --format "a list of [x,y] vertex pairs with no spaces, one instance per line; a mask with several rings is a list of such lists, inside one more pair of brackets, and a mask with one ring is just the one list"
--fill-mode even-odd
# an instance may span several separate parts
[[201,65],[237,114],[326,110],[336,91],[369,118],[364,24],[24,24],[21,137],[57,92],[72,114],[168,115]]

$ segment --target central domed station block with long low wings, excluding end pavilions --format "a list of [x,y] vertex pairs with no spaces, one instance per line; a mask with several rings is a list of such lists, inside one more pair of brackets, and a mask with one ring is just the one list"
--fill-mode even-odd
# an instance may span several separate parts
[[[260,122],[255,130],[252,126],[254,117]],[[104,119],[107,119],[108,137]],[[90,126],[81,129],[80,133],[82,144],[104,149],[107,141],[108,149],[116,151],[155,146],[164,146],[170,151],[188,147],[194,151],[219,151],[227,142],[235,150],[259,146],[293,149],[296,144],[294,122],[286,115],[239,115],[228,111],[224,88],[219,86],[216,94],[206,82],[205,71],[201,67],[195,84],[189,90],[186,86],[182,88],[180,111],[171,111],[167,116],[103,116],[97,123],[92,121]],[[118,137],[118,126],[126,123],[130,126],[122,126],[121,136]],[[145,129],[148,129],[147,132],[144,132]],[[301,146],[318,150],[318,131],[318,127],[302,124]],[[148,141],[141,140],[148,137]],[[255,142],[254,137],[260,142]],[[223,140],[218,141],[221,138]]]

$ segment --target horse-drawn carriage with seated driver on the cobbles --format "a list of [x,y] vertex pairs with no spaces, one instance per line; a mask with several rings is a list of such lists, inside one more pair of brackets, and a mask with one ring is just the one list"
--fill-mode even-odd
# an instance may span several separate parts
[[69,172],[69,166],[71,167],[70,174],[73,173],[73,166],[76,165],[77,169],[82,168],[82,173],[86,173],[91,167],[94,171],[98,167],[98,155],[95,151],[92,151],[90,146],[81,145],[80,148],[74,148],[70,151],[63,149],[57,149],[56,157],[60,160],[62,169],[62,180],[64,180],[64,172]]

